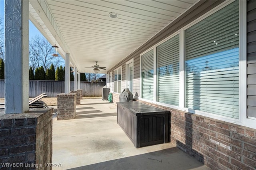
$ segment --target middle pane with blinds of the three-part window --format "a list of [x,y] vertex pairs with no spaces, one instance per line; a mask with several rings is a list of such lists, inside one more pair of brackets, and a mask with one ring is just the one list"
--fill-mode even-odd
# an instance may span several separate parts
[[179,35],[156,47],[157,96],[156,101],[179,106]]

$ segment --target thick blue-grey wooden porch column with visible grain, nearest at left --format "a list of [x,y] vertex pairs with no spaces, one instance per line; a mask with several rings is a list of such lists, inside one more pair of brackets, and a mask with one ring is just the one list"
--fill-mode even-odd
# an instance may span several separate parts
[[5,114],[29,110],[29,1],[5,1]]

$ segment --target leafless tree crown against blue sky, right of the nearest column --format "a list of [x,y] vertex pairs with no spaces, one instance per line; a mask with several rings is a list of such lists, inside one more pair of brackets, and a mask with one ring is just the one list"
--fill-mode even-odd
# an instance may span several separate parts
[[43,37],[35,36],[29,43],[29,64],[34,70],[41,65],[46,71],[53,63],[54,67],[63,64],[62,57],[54,57],[52,45]]

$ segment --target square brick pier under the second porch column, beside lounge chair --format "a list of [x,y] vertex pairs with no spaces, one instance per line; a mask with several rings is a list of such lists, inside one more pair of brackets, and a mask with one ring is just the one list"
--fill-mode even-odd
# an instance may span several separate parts
[[[79,98],[80,99],[80,98]],[[76,93],[57,95],[57,120],[75,119]]]

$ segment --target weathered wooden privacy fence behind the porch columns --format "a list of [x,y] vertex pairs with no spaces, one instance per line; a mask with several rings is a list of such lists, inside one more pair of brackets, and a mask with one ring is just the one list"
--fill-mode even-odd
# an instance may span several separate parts
[[[80,89],[83,96],[102,96],[102,87],[106,82],[81,82]],[[70,82],[70,90],[74,90],[74,81]],[[36,97],[46,93],[48,97],[57,97],[57,94],[65,93],[64,81],[30,80],[29,97]],[[4,98],[4,80],[0,80],[0,98]]]

